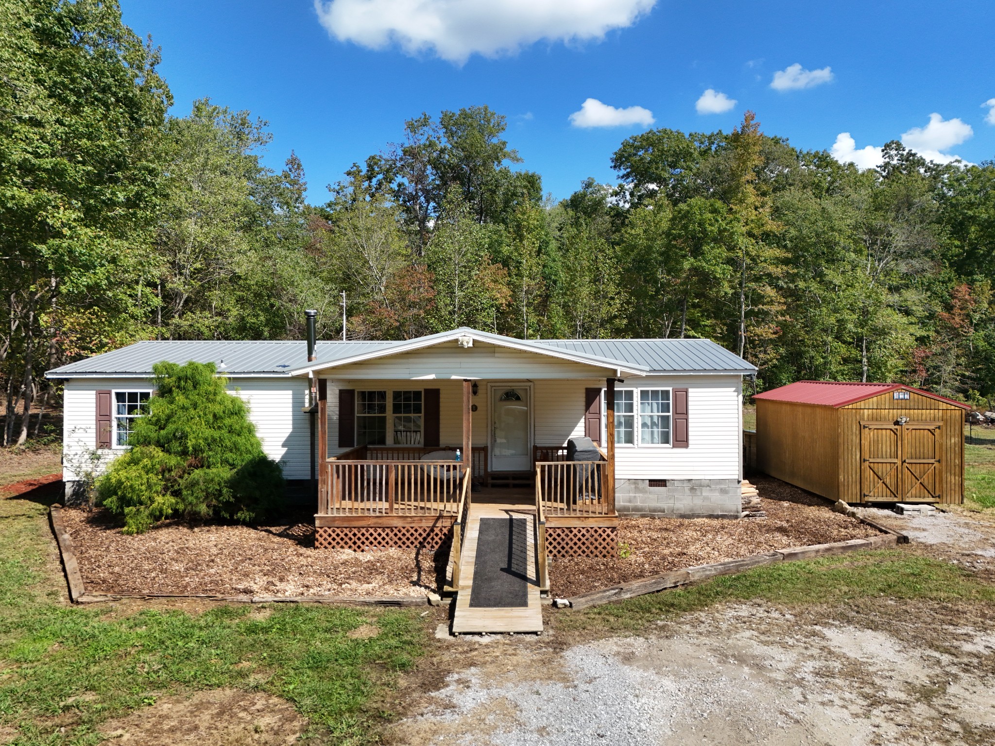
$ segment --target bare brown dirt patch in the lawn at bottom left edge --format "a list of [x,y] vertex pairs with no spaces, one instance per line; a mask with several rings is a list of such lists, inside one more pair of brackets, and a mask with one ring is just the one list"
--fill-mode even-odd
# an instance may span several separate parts
[[286,699],[263,692],[211,689],[192,697],[161,697],[155,704],[100,726],[104,744],[171,746],[283,746],[307,721]]

